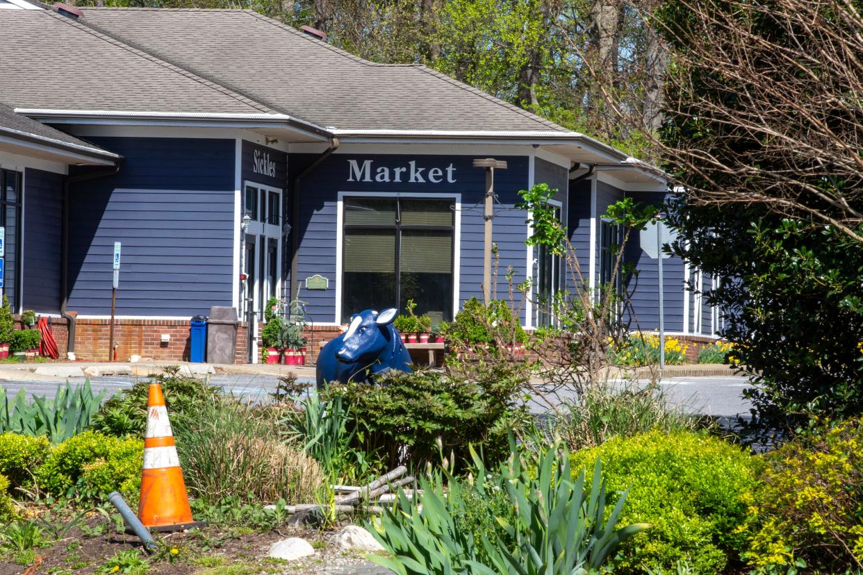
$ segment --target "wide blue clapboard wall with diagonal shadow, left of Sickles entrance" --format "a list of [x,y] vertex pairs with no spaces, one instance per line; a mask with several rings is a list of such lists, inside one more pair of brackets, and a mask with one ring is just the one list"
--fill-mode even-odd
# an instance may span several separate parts
[[117,316],[193,316],[230,305],[235,141],[91,141],[125,162],[115,176],[72,186],[68,308],[110,313],[115,241],[123,244]]

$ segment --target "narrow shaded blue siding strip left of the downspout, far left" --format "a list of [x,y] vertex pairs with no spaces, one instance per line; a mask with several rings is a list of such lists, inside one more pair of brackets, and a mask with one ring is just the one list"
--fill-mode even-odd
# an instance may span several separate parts
[[24,309],[60,311],[63,175],[28,168],[24,174]]

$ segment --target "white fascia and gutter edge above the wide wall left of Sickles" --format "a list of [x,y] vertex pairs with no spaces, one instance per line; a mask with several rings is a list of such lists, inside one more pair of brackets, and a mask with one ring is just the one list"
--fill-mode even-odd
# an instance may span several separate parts
[[97,124],[133,126],[205,126],[231,128],[264,128],[282,124],[326,141],[332,134],[312,122],[287,114],[226,114],[220,112],[171,112],[107,109],[40,109],[16,108],[16,113],[55,124]]

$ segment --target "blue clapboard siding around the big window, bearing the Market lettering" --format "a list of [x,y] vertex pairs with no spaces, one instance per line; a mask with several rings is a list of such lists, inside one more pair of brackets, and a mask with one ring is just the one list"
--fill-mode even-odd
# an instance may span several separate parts
[[[290,176],[298,173],[315,158],[310,154],[292,154],[289,162]],[[350,178],[349,160],[363,166],[366,160],[372,160],[371,182],[348,181]],[[527,186],[528,158],[520,156],[500,157],[508,163],[505,171],[495,175],[494,191],[500,201],[495,208],[494,241],[498,244],[500,253],[500,277],[498,278],[498,296],[506,297],[507,283],[503,277],[507,266],[513,266],[516,281],[526,277],[526,214],[523,210],[513,209],[518,201],[518,192]],[[433,183],[409,182],[409,173],[402,174],[402,182],[376,182],[375,170],[380,166],[407,166],[408,162],[416,161],[417,167],[424,168],[424,176],[428,176],[431,168],[453,166],[454,183],[446,180]],[[300,191],[299,222],[299,284],[300,299],[306,301],[306,310],[314,322],[333,322],[340,318],[336,313],[336,289],[340,278],[336,277],[336,242],[337,242],[337,196],[339,191],[350,193],[362,192],[420,192],[446,196],[460,193],[462,195],[461,213],[461,302],[469,297],[482,297],[482,198],[485,191],[485,171],[471,166],[473,156],[445,155],[413,155],[413,154],[366,154],[353,155],[346,153],[333,154],[324,163],[315,168],[303,178]],[[356,179],[356,178],[354,178]],[[425,179],[425,178],[424,178]],[[325,291],[306,291],[306,278],[320,274],[329,278],[329,288]]]

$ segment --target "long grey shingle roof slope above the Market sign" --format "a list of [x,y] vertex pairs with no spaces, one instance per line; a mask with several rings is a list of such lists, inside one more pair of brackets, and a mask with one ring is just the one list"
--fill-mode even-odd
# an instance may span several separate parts
[[250,10],[83,11],[123,42],[319,126],[568,131],[426,66],[375,64]]

